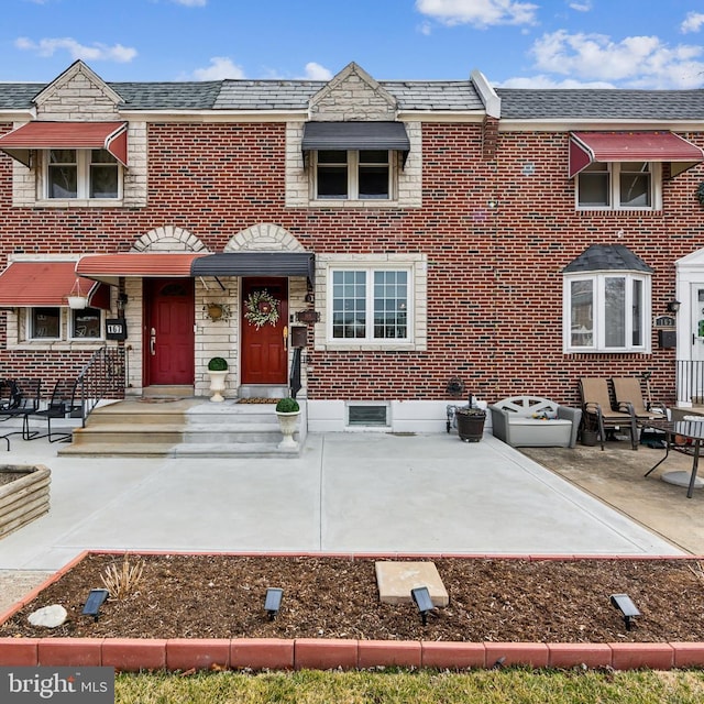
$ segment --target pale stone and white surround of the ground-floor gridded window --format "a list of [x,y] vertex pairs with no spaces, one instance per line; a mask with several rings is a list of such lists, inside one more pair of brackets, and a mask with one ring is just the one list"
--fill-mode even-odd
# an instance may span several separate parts
[[[409,276],[408,295],[408,340],[341,340],[332,338],[331,270],[407,270]],[[317,254],[316,255],[316,301],[320,305],[321,320],[316,324],[315,348],[328,351],[399,351],[425,352],[428,349],[428,256],[413,254]]]

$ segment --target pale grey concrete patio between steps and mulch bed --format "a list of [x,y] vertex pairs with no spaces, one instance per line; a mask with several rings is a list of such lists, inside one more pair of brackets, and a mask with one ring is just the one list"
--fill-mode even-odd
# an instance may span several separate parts
[[[59,458],[51,513],[0,540],[0,570],[85,549],[679,554],[673,544],[491,436],[310,435],[298,459]],[[2,457],[2,455],[0,455]]]

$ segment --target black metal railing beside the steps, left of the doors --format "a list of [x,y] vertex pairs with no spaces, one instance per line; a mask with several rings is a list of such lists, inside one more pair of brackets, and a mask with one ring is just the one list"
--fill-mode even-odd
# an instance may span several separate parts
[[86,418],[101,400],[124,396],[125,382],[124,348],[105,345],[96,350],[78,374],[75,385],[75,399],[80,404],[84,428]]

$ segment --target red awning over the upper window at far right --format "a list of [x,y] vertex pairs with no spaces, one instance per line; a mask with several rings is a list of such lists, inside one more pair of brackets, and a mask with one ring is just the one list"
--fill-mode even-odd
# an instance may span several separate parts
[[594,162],[669,162],[676,176],[704,162],[704,151],[672,132],[572,132],[570,178]]

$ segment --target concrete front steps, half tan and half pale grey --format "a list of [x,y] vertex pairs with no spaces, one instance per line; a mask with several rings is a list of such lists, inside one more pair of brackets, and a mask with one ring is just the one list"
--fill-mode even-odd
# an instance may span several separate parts
[[[305,406],[305,403],[302,404]],[[304,416],[304,414],[301,414]],[[300,424],[304,427],[302,419]],[[302,431],[305,441],[305,430]],[[301,438],[299,446],[302,447]],[[184,398],[165,403],[128,399],[97,408],[73,442],[58,449],[72,457],[274,458],[282,440],[273,404],[212,403]]]

